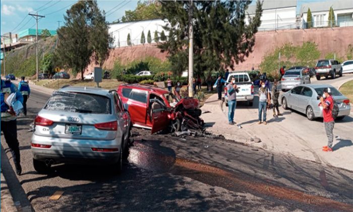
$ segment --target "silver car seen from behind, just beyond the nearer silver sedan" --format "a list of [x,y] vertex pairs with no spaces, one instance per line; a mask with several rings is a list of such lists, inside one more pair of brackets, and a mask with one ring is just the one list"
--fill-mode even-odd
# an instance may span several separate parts
[[290,69],[284,73],[281,79],[283,92],[297,85],[310,83],[310,76],[304,69]]

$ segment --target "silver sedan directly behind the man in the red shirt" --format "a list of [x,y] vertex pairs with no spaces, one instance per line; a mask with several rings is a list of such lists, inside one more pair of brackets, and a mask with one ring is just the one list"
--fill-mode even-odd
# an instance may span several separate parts
[[331,95],[339,107],[337,119],[343,119],[350,113],[349,99],[331,85],[300,85],[292,88],[282,95],[283,109],[293,109],[307,115],[309,120],[322,116],[322,109],[319,107],[320,96],[324,88],[331,89]]

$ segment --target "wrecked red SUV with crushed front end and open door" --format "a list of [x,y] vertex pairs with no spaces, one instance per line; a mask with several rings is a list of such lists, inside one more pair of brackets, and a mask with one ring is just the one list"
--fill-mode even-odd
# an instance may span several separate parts
[[129,104],[129,113],[134,127],[151,129],[151,133],[170,128],[180,131],[184,116],[186,122],[203,125],[199,102],[195,98],[179,99],[177,96],[158,87],[139,84],[124,84],[117,87],[123,103]]

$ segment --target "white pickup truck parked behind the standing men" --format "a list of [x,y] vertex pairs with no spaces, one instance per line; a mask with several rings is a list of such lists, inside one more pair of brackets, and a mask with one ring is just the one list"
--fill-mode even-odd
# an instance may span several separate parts
[[248,104],[252,106],[254,100],[254,84],[251,81],[249,74],[246,72],[229,73],[224,87],[225,105],[228,107],[228,90],[226,85],[230,83],[232,77],[236,78],[236,84],[239,88],[239,93],[237,93],[237,101],[247,101]]

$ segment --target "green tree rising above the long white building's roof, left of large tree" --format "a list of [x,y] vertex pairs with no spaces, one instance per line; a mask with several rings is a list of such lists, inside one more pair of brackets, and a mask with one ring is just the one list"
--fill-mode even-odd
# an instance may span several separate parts
[[160,18],[160,4],[158,1],[153,3],[137,2],[135,10],[125,11],[125,16],[122,17],[122,22],[140,21]]

